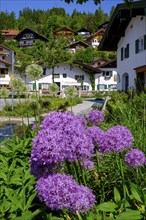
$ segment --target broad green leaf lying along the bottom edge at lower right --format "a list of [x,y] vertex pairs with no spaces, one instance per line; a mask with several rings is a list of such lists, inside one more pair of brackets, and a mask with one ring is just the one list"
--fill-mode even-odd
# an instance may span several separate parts
[[136,210],[122,212],[117,216],[117,220],[141,220],[142,218],[140,211]]

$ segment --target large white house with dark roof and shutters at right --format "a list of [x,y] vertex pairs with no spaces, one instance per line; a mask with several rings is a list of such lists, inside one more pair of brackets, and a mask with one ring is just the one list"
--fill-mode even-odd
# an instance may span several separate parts
[[146,86],[146,1],[118,4],[99,45],[117,51],[118,90]]

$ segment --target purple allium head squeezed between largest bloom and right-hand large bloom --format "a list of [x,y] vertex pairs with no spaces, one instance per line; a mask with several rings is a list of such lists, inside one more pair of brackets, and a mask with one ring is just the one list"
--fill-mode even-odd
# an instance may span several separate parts
[[98,140],[100,139],[101,135],[104,134],[104,131],[97,127],[92,126],[87,128],[86,134],[89,135],[89,137],[92,139],[93,144],[98,144]]

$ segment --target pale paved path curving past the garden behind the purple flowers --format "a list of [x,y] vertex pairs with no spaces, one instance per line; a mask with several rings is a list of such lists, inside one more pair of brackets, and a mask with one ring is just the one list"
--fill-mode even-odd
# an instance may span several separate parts
[[[72,111],[75,115],[86,115],[92,108],[91,106],[96,103],[94,98],[85,99],[81,104],[72,107]],[[71,111],[71,107],[68,108]],[[47,115],[47,114],[46,114]],[[24,118],[24,123],[28,124],[28,119]],[[22,118],[18,117],[0,117],[0,122],[14,122],[14,123],[21,123]],[[33,124],[35,122],[35,118],[29,118],[29,124]]]

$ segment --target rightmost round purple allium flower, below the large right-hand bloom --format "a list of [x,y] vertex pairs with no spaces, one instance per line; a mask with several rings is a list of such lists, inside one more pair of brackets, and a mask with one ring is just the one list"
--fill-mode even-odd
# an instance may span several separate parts
[[146,158],[141,150],[132,149],[127,152],[125,162],[128,164],[128,166],[137,168],[146,164]]

